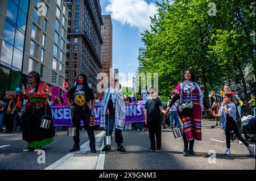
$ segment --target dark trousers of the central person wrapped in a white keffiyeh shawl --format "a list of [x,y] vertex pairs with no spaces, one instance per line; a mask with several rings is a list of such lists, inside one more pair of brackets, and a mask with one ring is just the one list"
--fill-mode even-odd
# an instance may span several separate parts
[[[106,122],[106,136],[112,136],[113,128],[115,125],[115,113],[109,113],[105,118]],[[118,146],[123,143],[123,135],[121,129],[115,129],[115,142]]]

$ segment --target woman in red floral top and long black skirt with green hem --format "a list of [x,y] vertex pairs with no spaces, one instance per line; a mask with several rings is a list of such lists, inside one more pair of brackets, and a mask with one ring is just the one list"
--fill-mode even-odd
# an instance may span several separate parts
[[[51,107],[49,107],[47,96],[51,96],[49,86],[40,81],[40,75],[32,71],[29,75],[30,85],[26,91],[22,89],[24,99],[27,99],[26,111],[23,120],[23,140],[27,141],[27,148],[23,151],[38,151],[42,146],[51,143],[54,140],[55,129]],[[40,128],[42,117],[49,116],[51,123],[49,128]]]

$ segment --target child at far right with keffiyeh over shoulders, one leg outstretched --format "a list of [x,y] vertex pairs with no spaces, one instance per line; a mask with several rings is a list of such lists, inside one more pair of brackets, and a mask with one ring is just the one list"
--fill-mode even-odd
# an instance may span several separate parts
[[247,141],[238,132],[236,122],[236,105],[232,102],[232,93],[225,92],[223,94],[223,102],[221,103],[218,115],[214,115],[213,111],[209,111],[214,117],[220,117],[220,126],[226,134],[226,151],[225,155],[230,155],[230,132],[233,131],[238,140],[240,140],[248,149],[250,155],[254,155],[254,146],[249,145]]

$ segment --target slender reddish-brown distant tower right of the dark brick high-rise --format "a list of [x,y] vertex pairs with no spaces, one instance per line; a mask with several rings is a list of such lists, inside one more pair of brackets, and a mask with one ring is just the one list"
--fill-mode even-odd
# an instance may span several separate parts
[[110,69],[112,69],[112,40],[113,40],[113,27],[111,15],[102,15],[103,26],[101,26],[101,36],[103,44],[101,45],[101,61],[103,68],[102,73],[106,73],[110,78]]

